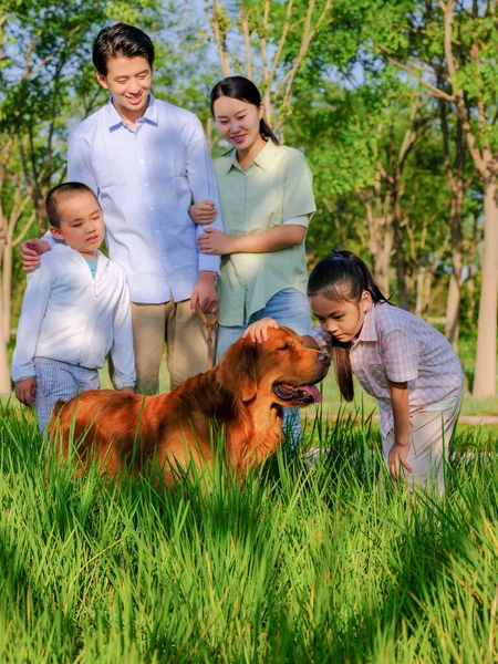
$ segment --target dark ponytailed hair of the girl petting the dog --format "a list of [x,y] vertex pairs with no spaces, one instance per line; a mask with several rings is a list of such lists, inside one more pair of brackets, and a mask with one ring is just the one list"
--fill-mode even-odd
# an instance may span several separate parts
[[[331,256],[322,258],[308,280],[309,298],[321,294],[335,302],[360,302],[364,291],[371,294],[374,303],[388,301],[366,264],[352,251],[333,251]],[[332,336],[332,357],[339,390],[345,401],[353,401],[350,343],[341,343]]]

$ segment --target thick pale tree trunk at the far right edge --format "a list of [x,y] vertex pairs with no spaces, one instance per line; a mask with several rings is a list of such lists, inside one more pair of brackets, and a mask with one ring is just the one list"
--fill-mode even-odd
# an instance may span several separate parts
[[497,181],[490,176],[485,186],[485,234],[483,282],[480,287],[477,325],[477,355],[474,396],[494,396],[496,393],[497,299],[498,299],[498,203]]

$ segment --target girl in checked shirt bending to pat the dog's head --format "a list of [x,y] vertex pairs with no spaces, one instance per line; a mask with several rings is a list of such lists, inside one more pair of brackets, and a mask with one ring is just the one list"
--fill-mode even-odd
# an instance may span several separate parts
[[[320,325],[307,345],[332,352],[342,396],[352,401],[353,373],[376,397],[383,457],[393,478],[444,494],[444,464],[461,404],[464,373],[448,341],[417,317],[390,304],[365,263],[350,251],[323,258],[308,297]],[[256,341],[278,326],[266,319],[247,333]]]

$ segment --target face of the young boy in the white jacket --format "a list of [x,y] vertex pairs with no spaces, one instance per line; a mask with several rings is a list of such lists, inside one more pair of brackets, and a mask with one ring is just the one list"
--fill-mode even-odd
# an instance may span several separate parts
[[104,217],[97,199],[90,191],[69,196],[59,203],[61,228],[51,228],[53,237],[85,258],[96,258],[104,239]]

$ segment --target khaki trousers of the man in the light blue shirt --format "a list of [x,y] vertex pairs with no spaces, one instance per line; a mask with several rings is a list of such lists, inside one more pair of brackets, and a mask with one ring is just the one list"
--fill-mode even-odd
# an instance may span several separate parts
[[157,394],[165,342],[170,390],[207,371],[206,325],[197,312],[191,313],[190,300],[132,302],[132,324],[138,392]]

